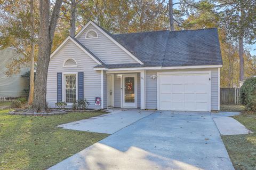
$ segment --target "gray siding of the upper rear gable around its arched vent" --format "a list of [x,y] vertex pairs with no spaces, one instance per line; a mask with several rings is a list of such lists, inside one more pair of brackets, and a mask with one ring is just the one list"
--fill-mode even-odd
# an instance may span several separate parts
[[[86,32],[91,29],[97,31],[98,38],[85,39]],[[138,63],[91,24],[77,39],[106,64]]]

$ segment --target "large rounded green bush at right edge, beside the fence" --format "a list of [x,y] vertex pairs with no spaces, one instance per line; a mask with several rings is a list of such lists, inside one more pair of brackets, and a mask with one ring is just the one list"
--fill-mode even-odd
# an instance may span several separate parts
[[256,77],[245,80],[240,93],[241,103],[245,109],[256,111]]

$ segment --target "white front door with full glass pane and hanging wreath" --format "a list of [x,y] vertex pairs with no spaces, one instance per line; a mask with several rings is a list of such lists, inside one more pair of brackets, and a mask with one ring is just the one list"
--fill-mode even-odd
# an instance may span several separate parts
[[124,74],[122,89],[123,108],[137,108],[137,74]]

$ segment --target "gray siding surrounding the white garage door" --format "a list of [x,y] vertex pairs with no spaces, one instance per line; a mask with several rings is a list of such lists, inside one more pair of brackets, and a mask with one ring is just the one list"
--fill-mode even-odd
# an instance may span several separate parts
[[218,110],[218,68],[146,71],[146,109],[157,109],[157,79],[151,79],[150,76],[157,75],[157,72],[172,71],[211,71],[211,108]]

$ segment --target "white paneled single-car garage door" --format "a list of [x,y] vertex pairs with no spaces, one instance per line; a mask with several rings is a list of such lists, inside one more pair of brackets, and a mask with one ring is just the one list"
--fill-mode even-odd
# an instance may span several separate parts
[[159,110],[210,111],[210,73],[159,73],[158,100]]

